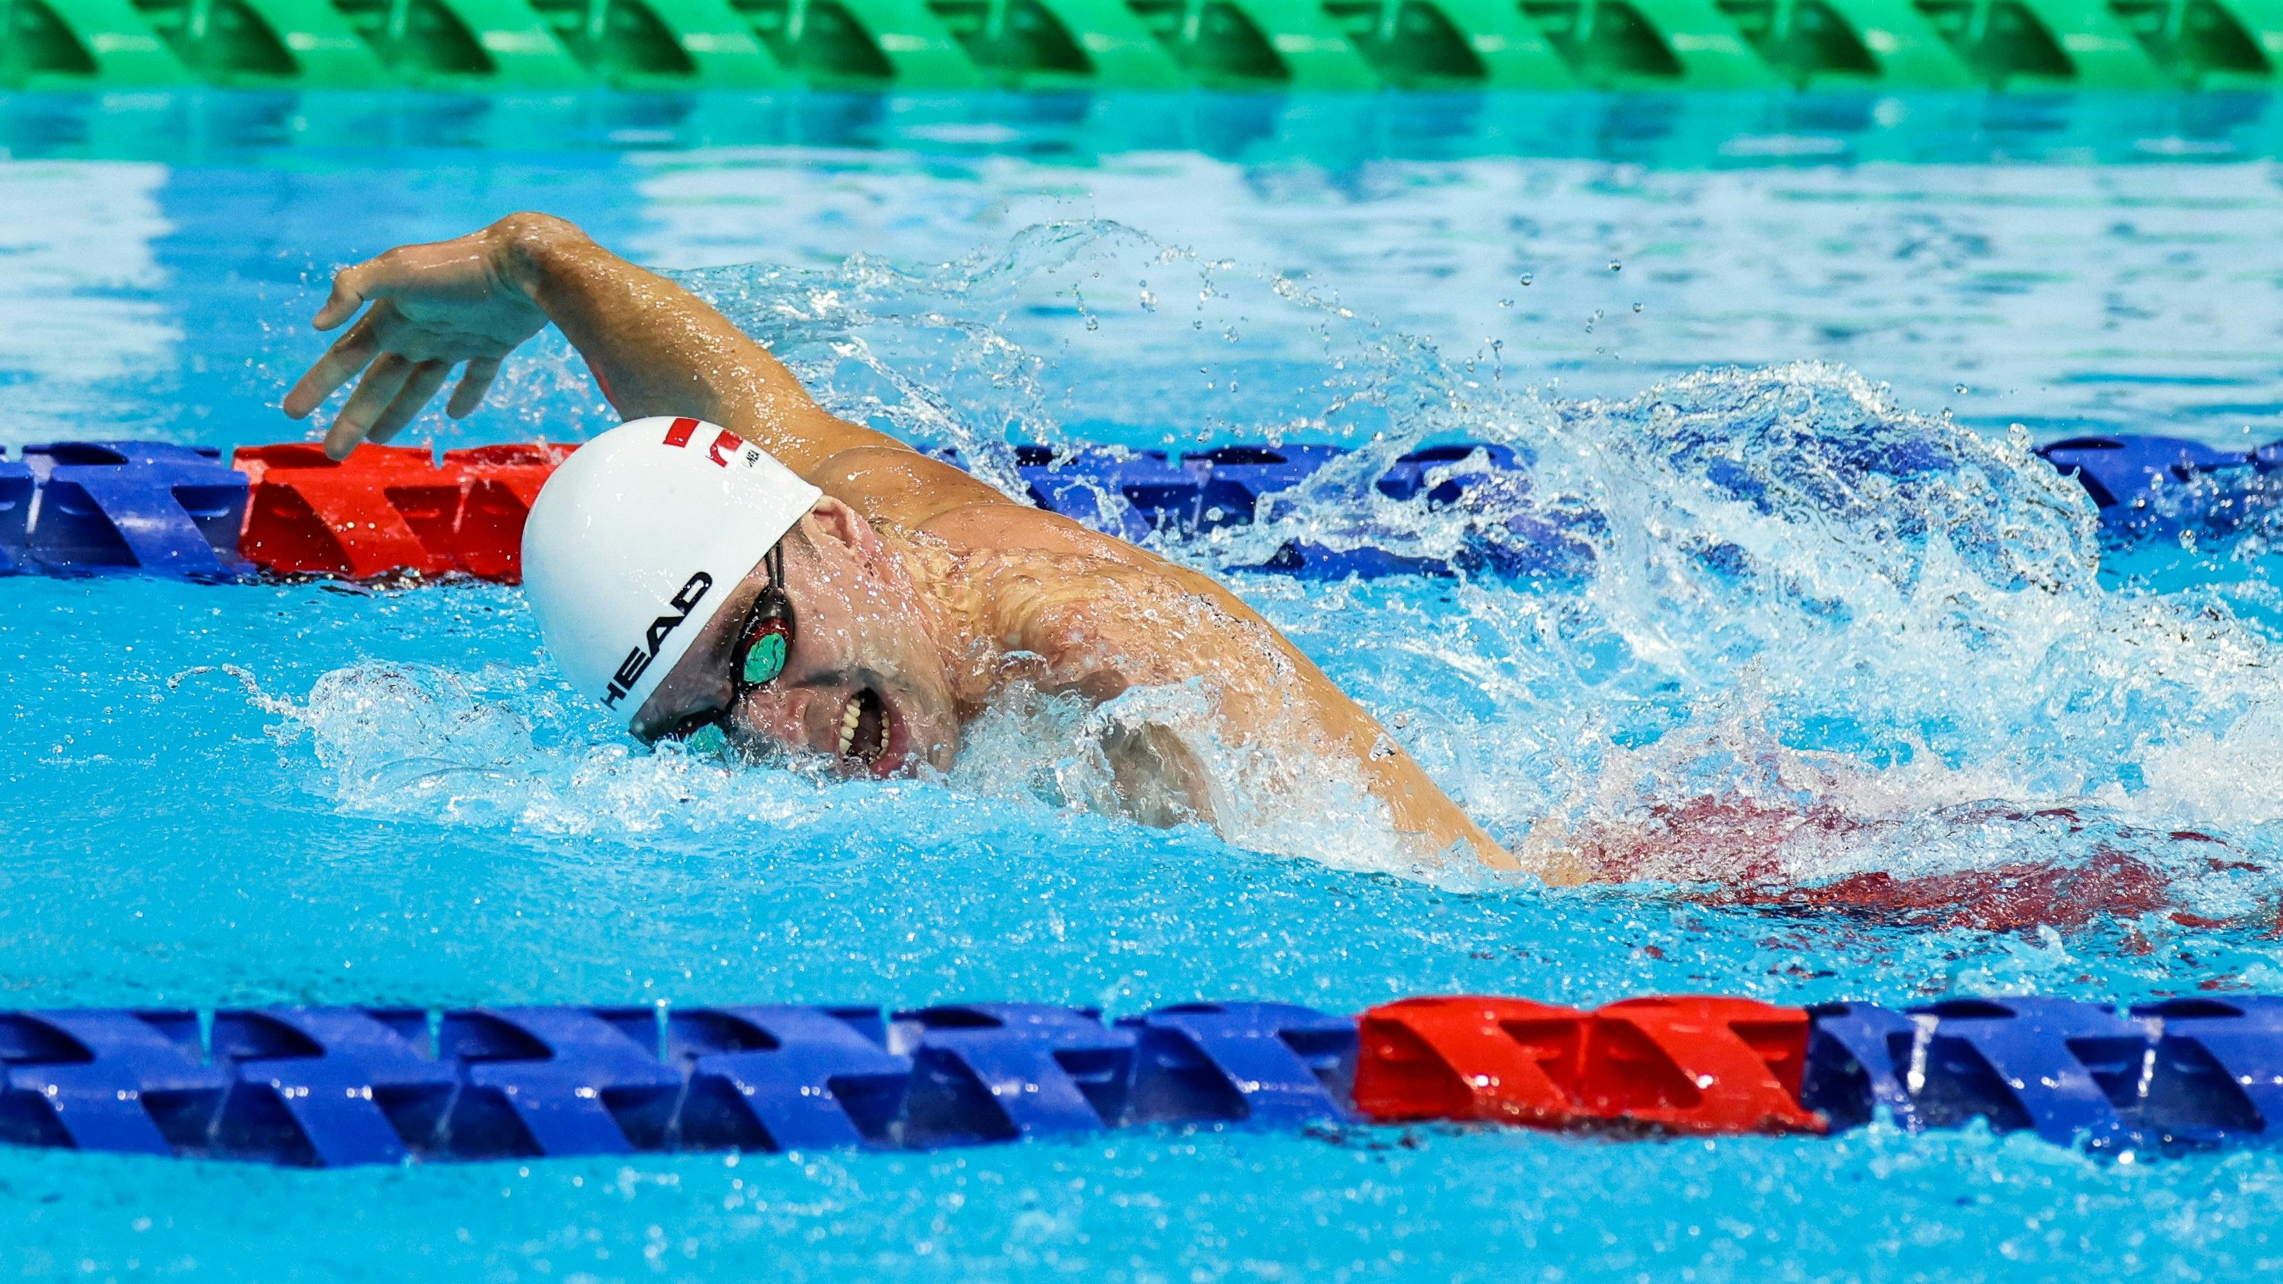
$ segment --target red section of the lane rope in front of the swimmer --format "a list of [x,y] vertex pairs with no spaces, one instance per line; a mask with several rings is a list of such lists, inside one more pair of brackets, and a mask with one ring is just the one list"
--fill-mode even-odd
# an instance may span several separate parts
[[1406,998],[1361,1021],[1356,1110],[1539,1129],[1822,1133],[1799,1104],[1808,1014],[1753,998]]

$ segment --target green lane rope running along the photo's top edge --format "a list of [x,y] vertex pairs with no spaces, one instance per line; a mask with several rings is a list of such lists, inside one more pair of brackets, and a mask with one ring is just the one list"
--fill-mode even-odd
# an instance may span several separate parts
[[0,87],[2221,89],[2283,0],[0,0]]

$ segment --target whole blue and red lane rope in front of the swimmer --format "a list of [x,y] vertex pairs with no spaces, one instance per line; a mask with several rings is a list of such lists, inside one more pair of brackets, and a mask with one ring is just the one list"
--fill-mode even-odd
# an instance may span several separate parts
[[[1425,1003],[1466,1012],[1500,1001]],[[1765,1021],[1756,1030],[1660,1026],[1644,1042],[1637,1024],[1555,1008],[1543,1012],[1566,1017],[1422,1024],[1420,1001],[1361,1019],[1290,1003],[1183,1003],[1119,1021],[1041,1003],[893,1014],[797,1005],[0,1012],[0,1142],[349,1167],[936,1149],[1132,1126],[1338,1131],[1438,1117],[1605,1135],[1799,1133],[1724,1104],[1765,1092],[1762,1072],[1781,1065],[1799,1072],[1778,1074],[1783,1092],[1829,1131],[1874,1117],[1906,1131],[1984,1120],[2089,1154],[2176,1154],[2269,1142],[2283,1124],[2283,998],[1753,1010],[1806,1019],[1804,1067],[1765,1040],[1735,1042],[1765,1035]],[[1374,1026],[1381,1014],[1441,1035],[1390,1042],[1390,1026]],[[1381,1033],[1358,1037],[1358,1021]],[[1731,1069],[1669,1074],[1683,1062],[1721,1065],[1701,1056],[1715,1044],[1756,1046],[1772,1060],[1733,1067],[1733,1085]],[[1365,1097],[1358,1076],[1377,1076],[1379,1088]],[[1470,1106],[1422,1110],[1418,1101],[1445,1099],[1441,1078],[1459,1083]],[[1548,1090],[1568,1094],[1575,1110],[1555,1104],[1548,1113]],[[1534,1113],[1495,1110],[1507,1092],[1534,1094]],[[1696,1126],[1689,1110],[1728,1122]]]

